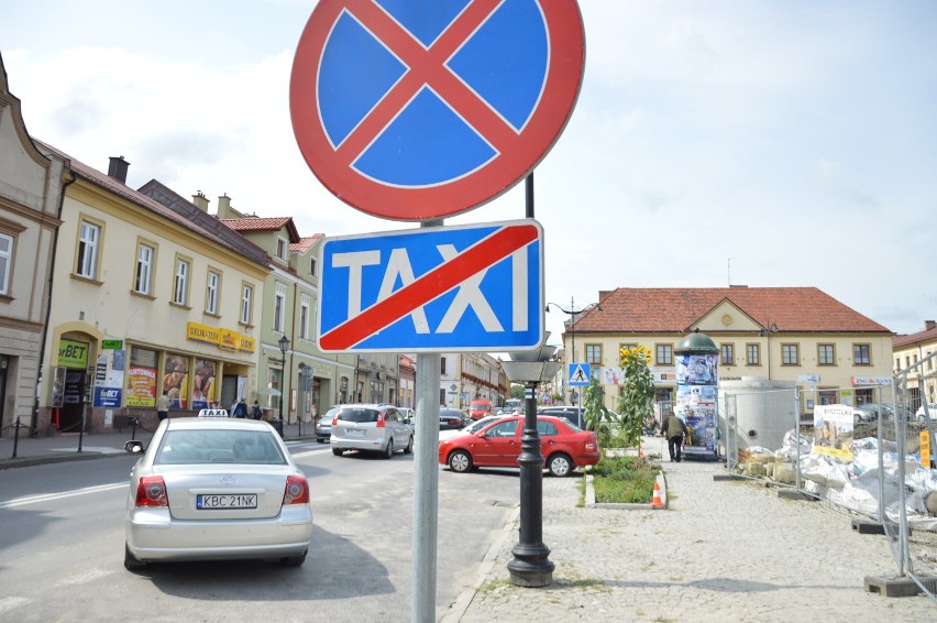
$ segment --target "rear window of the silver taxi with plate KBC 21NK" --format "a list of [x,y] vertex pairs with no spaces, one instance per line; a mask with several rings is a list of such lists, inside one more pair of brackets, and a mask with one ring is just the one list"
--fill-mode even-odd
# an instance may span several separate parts
[[258,463],[283,466],[286,458],[265,430],[167,430],[153,464]]

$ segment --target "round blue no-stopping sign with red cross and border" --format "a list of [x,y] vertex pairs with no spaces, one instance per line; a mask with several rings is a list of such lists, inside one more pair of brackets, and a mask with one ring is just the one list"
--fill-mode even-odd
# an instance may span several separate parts
[[584,59],[576,0],[320,0],[293,64],[294,133],[349,205],[456,215],[553,146]]

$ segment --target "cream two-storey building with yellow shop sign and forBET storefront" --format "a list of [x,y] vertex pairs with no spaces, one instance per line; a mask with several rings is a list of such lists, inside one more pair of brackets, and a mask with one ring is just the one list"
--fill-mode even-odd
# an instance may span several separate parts
[[167,207],[129,188],[123,157],[106,175],[40,147],[69,161],[40,426],[106,429],[130,415],[152,427],[163,392],[191,414],[255,387],[263,250],[178,196]]

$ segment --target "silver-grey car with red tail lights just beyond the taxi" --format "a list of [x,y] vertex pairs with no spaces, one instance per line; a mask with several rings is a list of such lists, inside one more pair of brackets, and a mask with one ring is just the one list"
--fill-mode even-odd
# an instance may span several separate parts
[[345,450],[381,452],[385,459],[397,450],[409,455],[414,451],[414,423],[393,405],[343,405],[332,416],[329,444],[337,457]]

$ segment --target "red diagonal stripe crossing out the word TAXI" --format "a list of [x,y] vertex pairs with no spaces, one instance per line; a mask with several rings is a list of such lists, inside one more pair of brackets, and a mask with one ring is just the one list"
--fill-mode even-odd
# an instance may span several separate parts
[[532,225],[499,229],[324,334],[319,338],[319,347],[322,350],[349,349],[537,239],[538,229]]

